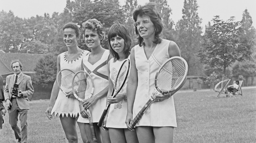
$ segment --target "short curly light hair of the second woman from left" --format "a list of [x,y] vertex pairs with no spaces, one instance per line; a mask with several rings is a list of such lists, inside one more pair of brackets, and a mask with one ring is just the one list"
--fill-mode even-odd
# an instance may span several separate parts
[[83,36],[84,36],[85,29],[90,29],[93,31],[97,31],[97,34],[99,35],[99,37],[102,38],[102,40],[100,40],[101,43],[105,39],[104,27],[100,23],[100,21],[96,19],[89,19],[86,22],[82,23],[82,26],[83,26]]

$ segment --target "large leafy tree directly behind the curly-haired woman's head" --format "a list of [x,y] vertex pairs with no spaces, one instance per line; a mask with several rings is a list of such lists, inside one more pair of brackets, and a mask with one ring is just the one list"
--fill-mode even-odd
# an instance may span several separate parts
[[[123,23],[123,11],[119,6],[118,0],[75,0],[67,1],[66,8],[72,14],[74,21],[83,23],[89,19],[97,19],[104,26],[107,32],[114,23]],[[83,42],[79,42],[83,43]],[[82,49],[88,49],[85,44],[78,45]],[[108,41],[105,39],[103,48],[108,49]]]

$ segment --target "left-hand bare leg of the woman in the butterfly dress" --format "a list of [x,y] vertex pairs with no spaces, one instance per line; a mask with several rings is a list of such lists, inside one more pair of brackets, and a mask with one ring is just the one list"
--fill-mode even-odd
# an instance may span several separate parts
[[108,128],[111,143],[126,143],[123,128]]

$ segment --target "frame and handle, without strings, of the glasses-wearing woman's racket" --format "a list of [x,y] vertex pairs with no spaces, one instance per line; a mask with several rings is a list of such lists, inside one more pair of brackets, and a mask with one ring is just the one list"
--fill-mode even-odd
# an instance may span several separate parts
[[[184,74],[184,77],[182,78],[182,82],[178,84],[178,86],[176,86],[175,88],[172,88],[171,90],[168,90],[168,91],[162,91],[160,88],[158,88],[157,86],[157,77],[158,77],[158,74],[160,72],[160,70],[162,69],[162,67],[170,60],[174,59],[174,58],[179,58],[183,61],[184,63],[184,66],[185,66],[185,74]],[[155,88],[162,94],[166,94],[166,93],[171,93],[171,94],[174,94],[175,92],[177,92],[186,82],[186,79],[187,79],[187,72],[188,72],[188,65],[187,65],[187,62],[185,61],[185,59],[183,59],[182,57],[180,56],[173,56],[169,59],[167,59],[159,68],[159,70],[157,71],[156,73],[156,77],[155,77]],[[142,115],[144,114],[144,112],[146,111],[146,109],[151,105],[151,103],[153,102],[153,99],[149,99],[148,102],[142,107],[142,109],[139,111],[139,113],[136,115],[136,117],[130,122],[130,124],[128,125],[128,128],[130,129],[133,129],[134,126],[139,122],[139,120],[141,119]]]

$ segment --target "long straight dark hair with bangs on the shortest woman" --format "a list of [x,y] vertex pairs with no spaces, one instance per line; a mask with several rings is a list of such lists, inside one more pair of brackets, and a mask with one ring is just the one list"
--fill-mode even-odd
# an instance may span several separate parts
[[113,37],[120,36],[122,39],[124,39],[124,54],[126,58],[130,55],[130,47],[132,44],[132,40],[129,34],[129,31],[126,29],[126,27],[122,24],[113,24],[109,31],[108,31],[108,43],[109,43],[109,50],[110,53],[114,56],[114,61],[119,59],[119,56],[116,51],[114,51],[111,47],[110,40]]

